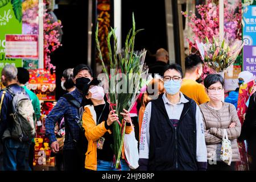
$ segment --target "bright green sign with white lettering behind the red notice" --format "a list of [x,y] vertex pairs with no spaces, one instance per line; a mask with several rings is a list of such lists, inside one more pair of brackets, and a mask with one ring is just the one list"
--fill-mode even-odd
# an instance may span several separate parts
[[0,0],[0,74],[6,64],[22,67],[21,59],[5,58],[6,34],[22,34],[22,0]]

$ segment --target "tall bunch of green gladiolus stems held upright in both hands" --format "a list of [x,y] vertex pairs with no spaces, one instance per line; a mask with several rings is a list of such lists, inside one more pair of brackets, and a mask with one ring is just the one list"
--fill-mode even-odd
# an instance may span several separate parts
[[[142,84],[147,77],[148,69],[144,66],[146,51],[134,51],[135,35],[141,30],[135,31],[135,21],[133,15],[133,28],[129,31],[125,41],[125,48],[117,50],[117,36],[115,29],[111,31],[106,38],[108,42],[108,54],[110,60],[110,73],[105,67],[102,59],[100,43],[98,42],[98,24],[96,28],[96,45],[98,56],[102,62],[103,71],[108,80],[109,93],[107,93],[110,102],[110,109],[115,110],[118,118],[122,121],[123,109],[131,110],[141,92]],[[114,43],[110,41],[113,36]],[[114,51],[112,51],[112,46]],[[112,149],[115,156],[115,168],[119,168],[120,157],[125,135],[126,121],[115,121],[113,123],[114,146]],[[122,124],[121,124],[122,123]]]

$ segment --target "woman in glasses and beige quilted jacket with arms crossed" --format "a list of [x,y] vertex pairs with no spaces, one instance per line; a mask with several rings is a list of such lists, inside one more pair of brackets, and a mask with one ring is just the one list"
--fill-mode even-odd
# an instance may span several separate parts
[[[204,80],[210,101],[200,105],[203,114],[205,142],[209,171],[234,171],[240,161],[237,138],[241,133],[241,123],[233,104],[222,101],[224,98],[224,78],[221,75],[208,75]],[[232,163],[230,166],[221,160],[221,143],[224,129],[232,145]]]

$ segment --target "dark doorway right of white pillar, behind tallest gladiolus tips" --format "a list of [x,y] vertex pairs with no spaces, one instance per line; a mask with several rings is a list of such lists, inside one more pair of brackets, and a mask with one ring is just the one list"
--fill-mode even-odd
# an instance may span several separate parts
[[122,1],[122,47],[126,35],[132,27],[134,12],[136,29],[143,28],[135,38],[135,50],[145,48],[148,51],[146,63],[155,61],[154,55],[159,48],[167,48],[166,13],[164,0],[129,0]]

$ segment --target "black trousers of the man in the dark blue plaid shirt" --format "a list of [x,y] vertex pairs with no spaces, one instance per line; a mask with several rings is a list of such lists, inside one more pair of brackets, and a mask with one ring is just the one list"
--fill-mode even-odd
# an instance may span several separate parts
[[64,171],[85,171],[85,154],[77,150],[63,150]]

